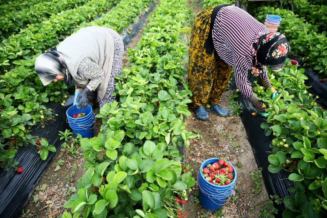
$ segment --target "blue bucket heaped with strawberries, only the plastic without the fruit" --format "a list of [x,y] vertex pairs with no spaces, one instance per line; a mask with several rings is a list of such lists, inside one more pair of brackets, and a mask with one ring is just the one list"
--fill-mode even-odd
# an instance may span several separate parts
[[234,179],[230,184],[218,186],[206,180],[202,174],[202,169],[208,164],[218,162],[218,160],[219,158],[210,158],[203,161],[198,173],[199,201],[202,207],[207,210],[218,210],[225,204],[227,197],[232,194],[237,178],[234,166],[227,161],[229,164],[231,164],[234,173]]

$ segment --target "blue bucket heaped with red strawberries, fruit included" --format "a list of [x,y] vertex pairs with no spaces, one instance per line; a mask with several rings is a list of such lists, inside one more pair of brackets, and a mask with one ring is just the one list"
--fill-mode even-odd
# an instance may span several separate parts
[[233,165],[224,158],[210,158],[198,173],[199,201],[207,210],[218,210],[232,194],[236,181]]

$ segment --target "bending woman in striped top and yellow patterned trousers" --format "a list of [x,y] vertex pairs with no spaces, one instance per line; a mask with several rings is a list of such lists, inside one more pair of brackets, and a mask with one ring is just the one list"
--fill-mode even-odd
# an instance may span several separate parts
[[277,91],[270,84],[266,67],[280,71],[289,49],[282,33],[269,33],[265,25],[241,8],[225,4],[198,12],[192,27],[188,65],[189,88],[193,92],[190,106],[198,119],[209,119],[206,110],[228,116],[228,110],[218,103],[232,66],[241,94],[258,113],[267,116],[266,106],[253,93],[248,75],[258,76],[274,97]]

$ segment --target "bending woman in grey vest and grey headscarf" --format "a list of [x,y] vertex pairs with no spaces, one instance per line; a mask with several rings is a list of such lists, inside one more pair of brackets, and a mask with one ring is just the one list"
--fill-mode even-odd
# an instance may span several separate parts
[[101,26],[81,28],[57,48],[35,60],[35,71],[43,85],[64,80],[75,84],[74,105],[85,108],[89,97],[97,93],[100,108],[115,100],[116,75],[121,74],[124,44],[118,33]]

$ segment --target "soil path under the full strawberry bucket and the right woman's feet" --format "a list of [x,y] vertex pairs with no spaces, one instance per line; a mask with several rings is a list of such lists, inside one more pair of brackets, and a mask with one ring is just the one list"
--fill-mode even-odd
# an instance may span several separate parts
[[[189,6],[194,16],[201,10],[198,1],[190,0]],[[231,91],[226,91],[221,100],[220,106],[226,109],[229,107]],[[197,204],[198,187],[193,187],[189,194],[189,200],[184,205],[184,210],[189,218],[256,218],[259,217],[260,202],[267,194],[265,186],[261,185],[261,191],[254,195],[251,172],[258,171],[252,148],[247,140],[244,126],[240,117],[228,116],[226,118],[209,113],[209,121],[200,121],[196,118],[194,111],[191,116],[185,119],[188,131],[199,134],[200,138],[193,139],[190,149],[185,152],[185,163],[193,169],[193,176],[198,178],[198,170],[205,159],[214,157],[225,157],[236,168],[237,181],[236,192],[232,193],[229,202],[218,211],[205,210]],[[239,166],[239,167],[237,167]],[[261,177],[259,179],[262,180]]]

